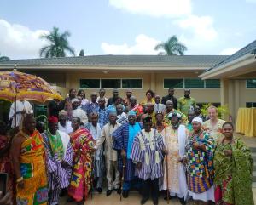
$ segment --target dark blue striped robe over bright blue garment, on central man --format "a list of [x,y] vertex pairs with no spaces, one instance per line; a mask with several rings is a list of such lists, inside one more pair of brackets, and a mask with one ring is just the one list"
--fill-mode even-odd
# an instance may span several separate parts
[[[130,134],[130,126],[131,125],[127,122],[113,132],[113,149],[118,151],[118,168],[119,173],[121,174],[123,174],[123,158],[121,157],[121,151],[125,150],[126,156],[128,157],[128,144],[131,144],[131,142],[133,141],[132,138],[134,138],[135,135],[137,134],[134,132],[134,136]],[[141,129],[141,126],[138,122],[136,122],[136,126],[139,126],[139,129]],[[131,158],[127,157],[125,162],[124,180],[131,181],[132,179],[134,179],[135,165],[132,162]]]

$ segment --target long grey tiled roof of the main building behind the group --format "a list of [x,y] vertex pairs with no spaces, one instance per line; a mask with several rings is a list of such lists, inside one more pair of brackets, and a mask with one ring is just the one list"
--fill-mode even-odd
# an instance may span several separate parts
[[8,60],[1,65],[215,65],[228,55],[91,55]]

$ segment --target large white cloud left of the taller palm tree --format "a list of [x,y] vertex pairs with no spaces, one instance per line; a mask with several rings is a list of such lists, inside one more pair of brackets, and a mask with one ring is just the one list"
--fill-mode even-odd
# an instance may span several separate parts
[[40,36],[49,31],[32,31],[26,26],[0,19],[0,53],[11,59],[38,58],[46,42]]

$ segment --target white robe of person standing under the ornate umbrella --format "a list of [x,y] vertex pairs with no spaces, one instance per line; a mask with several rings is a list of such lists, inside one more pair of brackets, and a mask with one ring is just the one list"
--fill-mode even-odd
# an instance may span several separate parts
[[[26,100],[21,102],[20,100],[16,101],[16,127],[21,126],[21,122],[25,115],[22,115],[21,113],[17,113],[18,111],[26,111],[26,114],[33,114],[32,105]],[[15,128],[15,103],[13,102],[10,111],[9,111],[9,119],[12,119],[12,128]]]

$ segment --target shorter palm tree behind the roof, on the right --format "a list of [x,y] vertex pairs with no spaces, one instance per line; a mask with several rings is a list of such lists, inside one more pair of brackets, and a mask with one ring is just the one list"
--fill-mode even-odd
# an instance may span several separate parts
[[169,37],[166,42],[158,43],[154,49],[163,50],[160,51],[159,55],[183,55],[188,48],[183,43],[178,42],[177,37],[174,35]]

